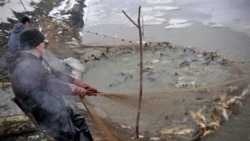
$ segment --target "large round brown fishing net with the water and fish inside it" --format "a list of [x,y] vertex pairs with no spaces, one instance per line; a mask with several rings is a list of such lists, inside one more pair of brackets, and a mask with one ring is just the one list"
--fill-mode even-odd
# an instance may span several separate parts
[[[83,79],[101,91],[83,100],[93,130],[99,140],[136,140],[139,47],[95,50],[82,57]],[[229,120],[249,94],[249,78],[216,52],[162,42],[144,44],[143,54],[138,140],[202,139]]]

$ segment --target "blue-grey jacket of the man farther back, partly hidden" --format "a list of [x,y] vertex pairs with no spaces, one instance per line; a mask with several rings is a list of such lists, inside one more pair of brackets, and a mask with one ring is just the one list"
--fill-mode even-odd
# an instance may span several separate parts
[[15,24],[15,26],[12,29],[12,32],[10,34],[8,46],[9,46],[9,51],[11,53],[15,53],[16,51],[19,51],[19,35],[20,33],[26,28],[26,26],[19,22]]

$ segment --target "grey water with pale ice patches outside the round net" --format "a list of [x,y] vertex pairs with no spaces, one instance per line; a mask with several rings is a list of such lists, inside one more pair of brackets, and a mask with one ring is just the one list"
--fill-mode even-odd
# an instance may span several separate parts
[[[145,41],[169,41],[196,47],[234,61],[250,74],[250,17],[248,0],[90,0],[83,43],[90,45],[137,42],[138,32],[121,10],[136,21],[142,6]],[[91,32],[87,32],[91,31]],[[97,34],[96,34],[97,33]],[[250,102],[209,141],[248,141]],[[237,127],[237,128],[236,128]]]

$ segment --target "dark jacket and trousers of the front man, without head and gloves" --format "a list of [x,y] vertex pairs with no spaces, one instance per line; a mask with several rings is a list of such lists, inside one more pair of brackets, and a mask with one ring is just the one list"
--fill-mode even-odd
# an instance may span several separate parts
[[[68,83],[74,79],[62,72],[48,70],[42,61],[26,52],[17,52],[8,60],[12,89],[40,130],[57,140],[73,141],[77,122],[81,121],[81,126],[88,129],[83,117],[72,120],[80,116],[71,112],[62,97],[71,94]],[[87,141],[85,137],[82,140]]]

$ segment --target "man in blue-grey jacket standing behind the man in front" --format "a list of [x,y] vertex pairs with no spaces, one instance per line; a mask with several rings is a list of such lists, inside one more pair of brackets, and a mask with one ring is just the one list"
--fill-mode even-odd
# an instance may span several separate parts
[[9,51],[12,54],[19,50],[19,35],[27,27],[31,27],[30,18],[27,16],[22,17],[21,20],[14,25],[8,42]]

